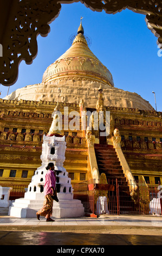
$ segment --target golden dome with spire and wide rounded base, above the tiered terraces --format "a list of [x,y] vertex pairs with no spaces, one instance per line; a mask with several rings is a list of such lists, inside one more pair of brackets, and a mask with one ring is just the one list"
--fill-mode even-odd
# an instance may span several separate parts
[[153,110],[137,93],[114,87],[111,72],[90,51],[81,22],[72,46],[48,66],[42,83],[17,89],[4,99],[57,101],[60,88],[60,102],[80,103],[83,100],[86,107],[95,108],[100,86],[105,106]]

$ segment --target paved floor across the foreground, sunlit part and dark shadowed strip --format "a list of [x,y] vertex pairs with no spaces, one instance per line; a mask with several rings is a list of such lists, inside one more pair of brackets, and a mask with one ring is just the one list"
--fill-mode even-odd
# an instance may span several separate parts
[[[16,218],[0,208],[0,245],[162,245],[161,216]],[[61,247],[63,248],[63,247]]]

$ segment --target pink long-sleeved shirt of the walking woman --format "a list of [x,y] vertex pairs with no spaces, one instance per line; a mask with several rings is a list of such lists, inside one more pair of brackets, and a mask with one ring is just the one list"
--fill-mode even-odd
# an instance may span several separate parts
[[51,187],[55,189],[56,178],[53,170],[48,170],[45,176],[45,184],[44,184],[44,196],[47,194],[53,194],[53,190]]

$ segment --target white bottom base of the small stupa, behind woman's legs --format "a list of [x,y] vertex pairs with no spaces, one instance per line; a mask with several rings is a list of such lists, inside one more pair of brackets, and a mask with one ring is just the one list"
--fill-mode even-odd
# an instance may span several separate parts
[[[9,216],[18,218],[35,218],[36,212],[43,206],[42,200],[25,198],[16,199],[9,207]],[[85,209],[80,200],[59,200],[53,204],[53,217],[80,217],[85,215]]]

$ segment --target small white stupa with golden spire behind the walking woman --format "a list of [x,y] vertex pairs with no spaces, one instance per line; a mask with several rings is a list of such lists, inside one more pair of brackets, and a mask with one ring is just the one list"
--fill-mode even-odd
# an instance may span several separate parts
[[53,204],[53,217],[79,217],[85,214],[85,209],[80,200],[73,199],[73,187],[68,172],[63,167],[65,160],[66,141],[65,136],[60,135],[60,112],[58,102],[53,113],[53,123],[50,130],[43,137],[42,165],[37,168],[35,175],[28,186],[24,198],[18,198],[9,208],[9,215],[20,218],[36,218],[36,212],[40,210],[44,202],[44,181],[47,173],[46,167],[49,162],[55,164],[56,189],[59,202]]

